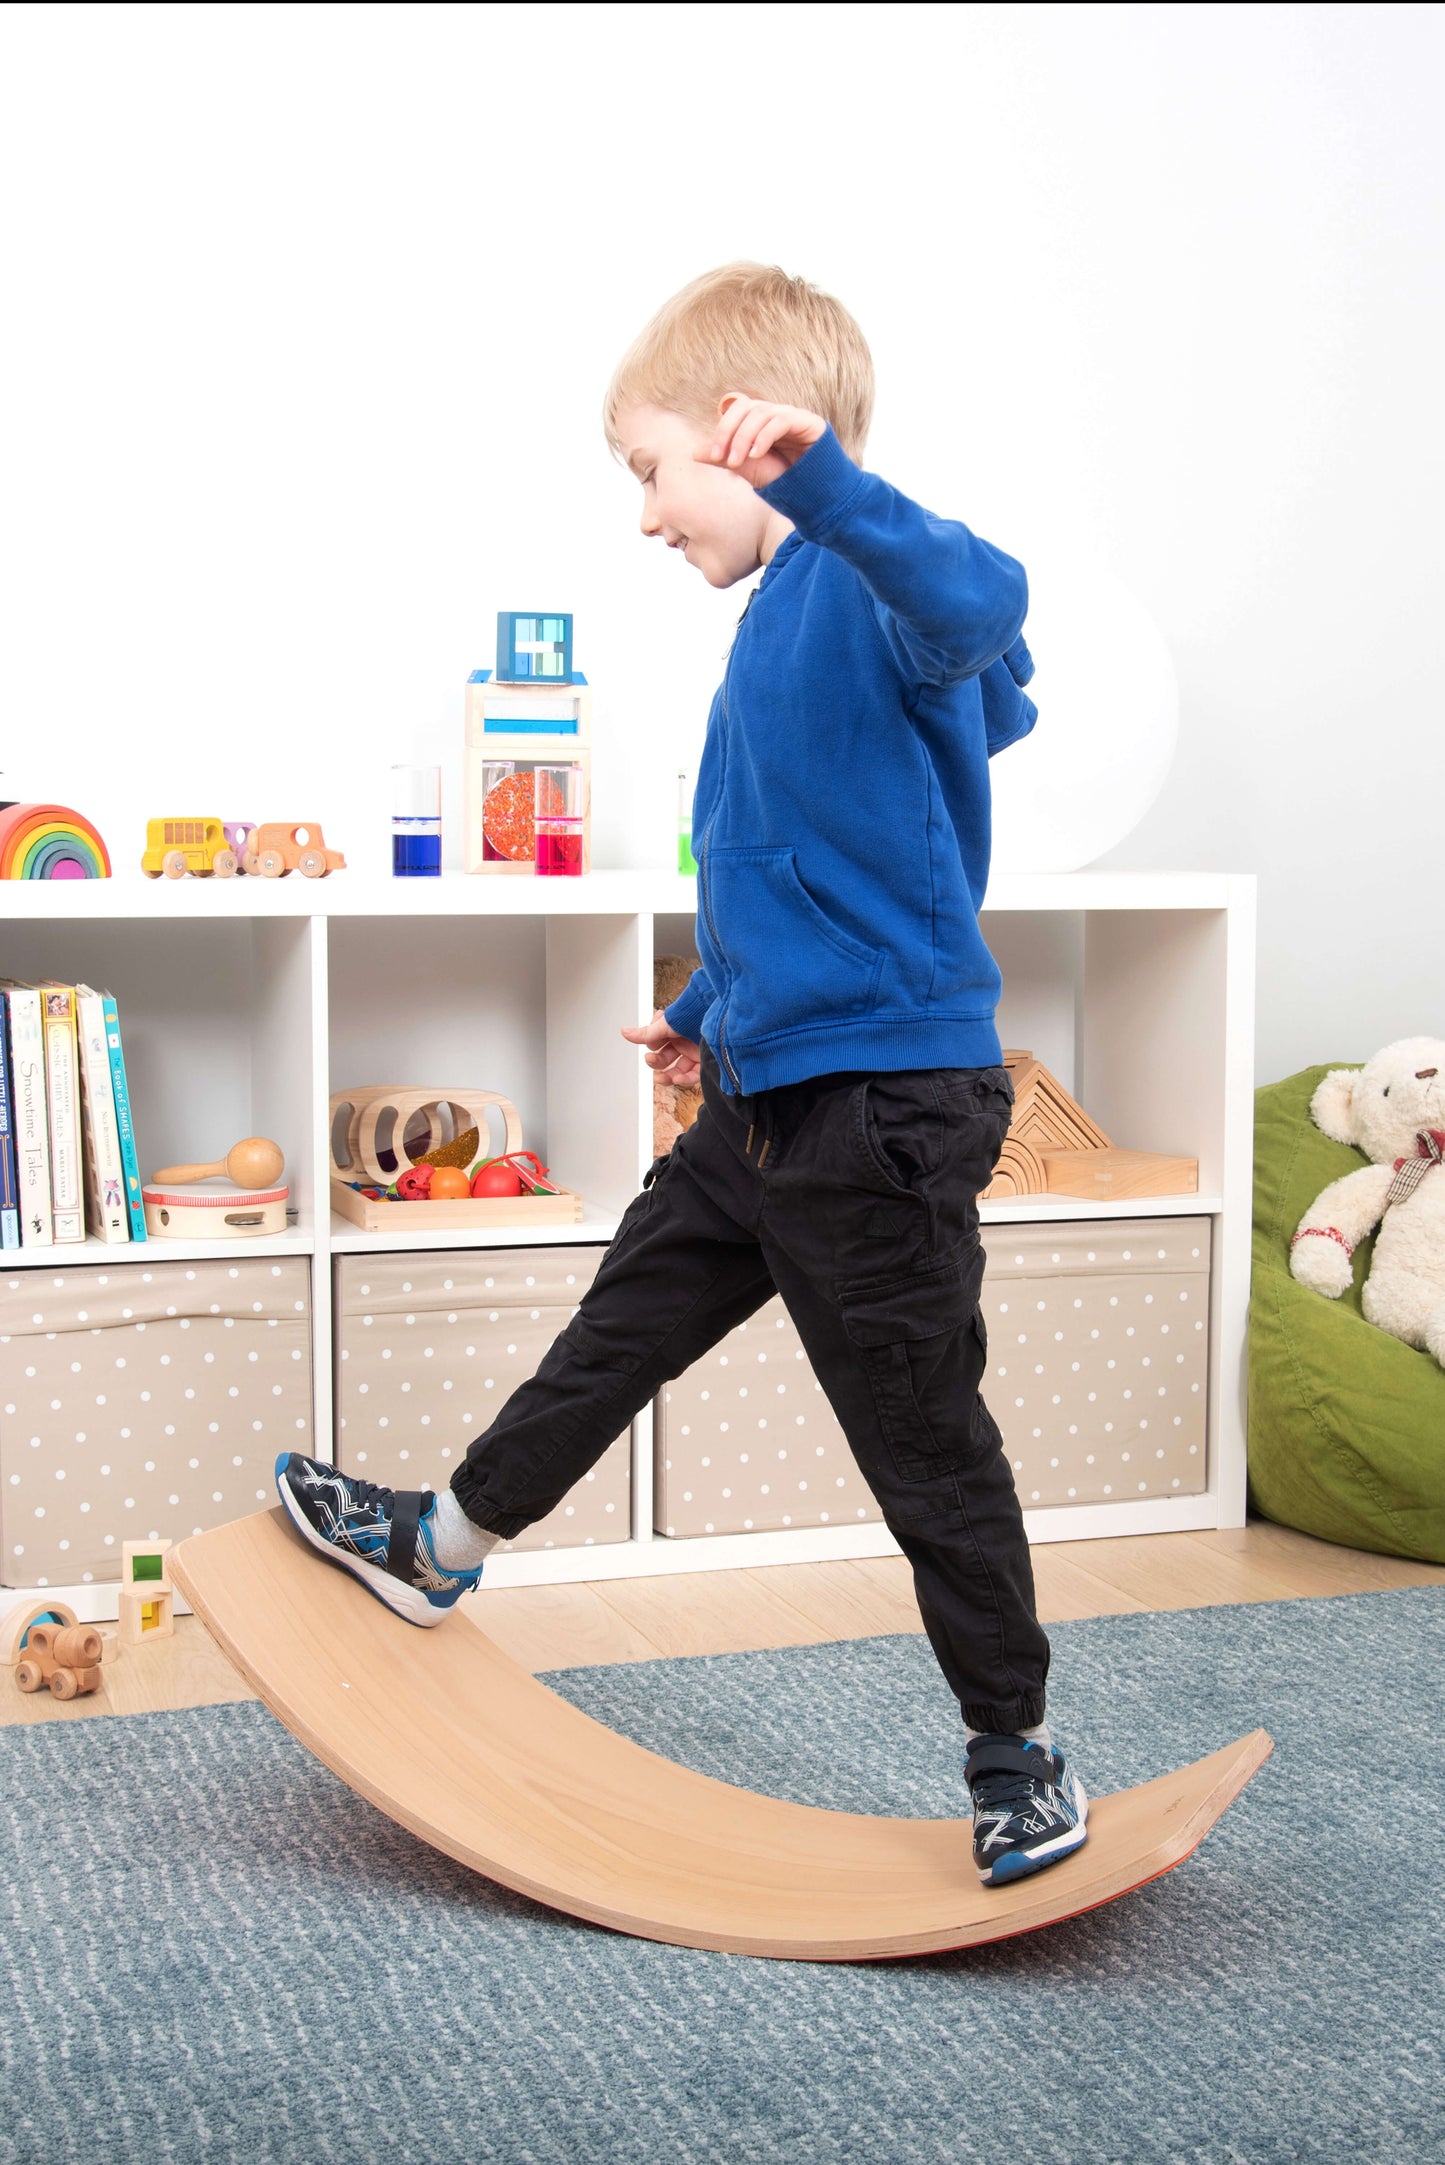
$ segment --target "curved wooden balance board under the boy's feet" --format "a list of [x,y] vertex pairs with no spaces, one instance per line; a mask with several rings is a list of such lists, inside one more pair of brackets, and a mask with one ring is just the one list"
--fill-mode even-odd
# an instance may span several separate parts
[[405,1624],[282,1509],[182,1541],[171,1578],[290,1734],[388,1819],[518,1894],[676,1946],[860,1961],[1038,1931],[1168,1873],[1272,1751],[1254,1730],[1096,1797],[1083,1849],[986,1888],[966,1819],[825,1812],[676,1767],[470,1615]]

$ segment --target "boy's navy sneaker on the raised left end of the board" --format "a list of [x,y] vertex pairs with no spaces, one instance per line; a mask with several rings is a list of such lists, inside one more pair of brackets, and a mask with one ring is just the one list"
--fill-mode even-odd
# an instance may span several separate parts
[[440,1624],[483,1565],[446,1572],[431,1552],[431,1490],[383,1490],[299,1451],[275,1461],[275,1485],[297,1533],[407,1624]]

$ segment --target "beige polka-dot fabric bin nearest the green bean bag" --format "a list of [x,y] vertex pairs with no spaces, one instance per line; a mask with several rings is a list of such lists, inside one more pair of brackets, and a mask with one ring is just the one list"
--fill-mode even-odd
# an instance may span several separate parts
[[1205,1490],[1207,1217],[986,1225],[984,1401],[1027,1511]]

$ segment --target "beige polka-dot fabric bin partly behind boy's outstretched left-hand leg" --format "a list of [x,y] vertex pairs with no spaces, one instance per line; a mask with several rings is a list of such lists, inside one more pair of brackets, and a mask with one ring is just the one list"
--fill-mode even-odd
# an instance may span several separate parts
[[[466,1446],[565,1329],[602,1247],[466,1247],[336,1262],[336,1461],[388,1487],[444,1490]],[[630,1427],[509,1548],[630,1537]]]

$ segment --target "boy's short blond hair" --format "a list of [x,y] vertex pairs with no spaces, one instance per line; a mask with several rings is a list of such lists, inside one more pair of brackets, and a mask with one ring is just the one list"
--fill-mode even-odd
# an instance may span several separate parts
[[613,452],[617,414],[656,405],[702,427],[726,392],[780,398],[832,422],[860,459],[873,420],[873,355],[832,294],[776,264],[721,264],[665,301],[617,362],[602,401]]

